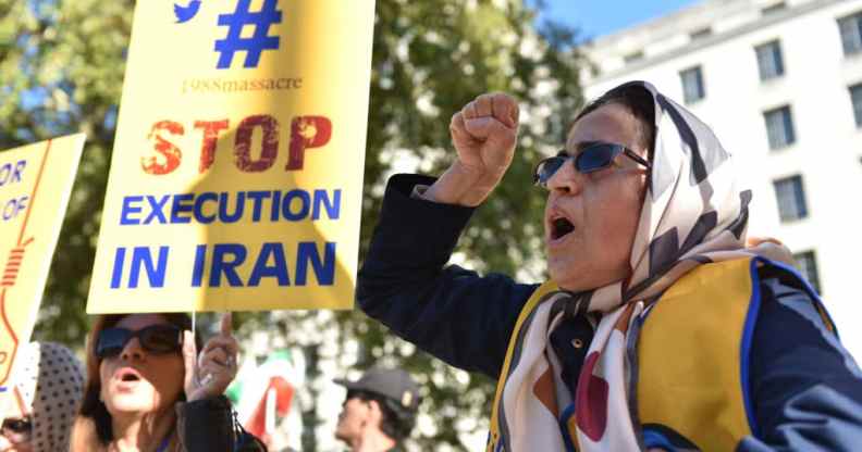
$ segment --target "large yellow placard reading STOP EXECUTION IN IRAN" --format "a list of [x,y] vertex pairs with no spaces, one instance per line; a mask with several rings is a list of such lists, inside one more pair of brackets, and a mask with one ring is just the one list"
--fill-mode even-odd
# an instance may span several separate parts
[[353,306],[373,18],[137,2],[88,313]]

